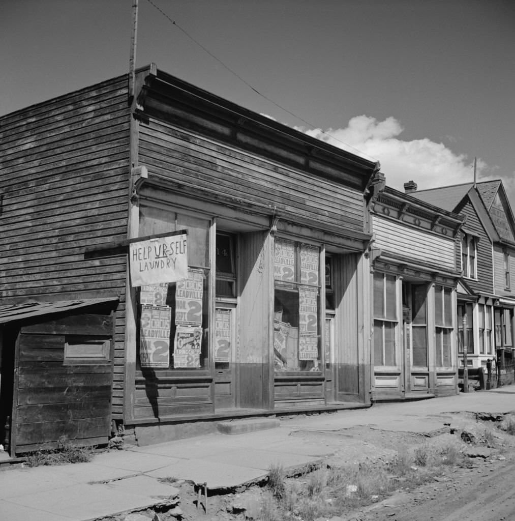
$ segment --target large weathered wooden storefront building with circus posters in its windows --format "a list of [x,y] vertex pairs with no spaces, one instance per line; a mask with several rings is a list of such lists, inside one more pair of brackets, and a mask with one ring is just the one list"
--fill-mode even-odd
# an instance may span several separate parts
[[[377,163],[154,65],[134,93],[123,76],[0,125],[11,454],[61,432],[96,444],[123,427],[149,443],[220,418],[370,403]],[[184,233],[183,278],[136,284],[136,264],[154,269],[138,245]]]

